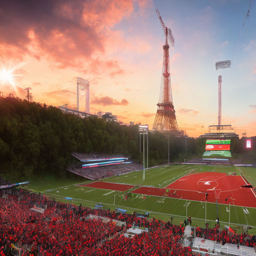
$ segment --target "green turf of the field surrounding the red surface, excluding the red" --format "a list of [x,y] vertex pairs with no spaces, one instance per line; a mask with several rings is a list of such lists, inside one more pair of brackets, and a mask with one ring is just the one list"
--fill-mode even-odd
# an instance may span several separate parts
[[[131,184],[143,186],[152,186],[163,188],[181,178],[188,173],[199,172],[221,172],[232,174],[237,172],[240,175],[241,172],[244,177],[251,183],[256,181],[256,169],[250,167],[238,167],[235,166],[205,166],[205,165],[181,165],[173,164],[170,166],[161,166],[157,168],[148,169],[145,171],[145,180],[142,182],[143,171],[132,172],[120,176],[113,176],[101,181],[119,183],[119,184]],[[85,181],[90,183],[92,181]],[[54,187],[54,185],[56,185]],[[56,200],[63,202],[70,202],[75,204],[82,203],[83,206],[94,208],[97,203],[102,203],[105,209],[110,208],[115,210],[116,207],[127,210],[128,213],[133,211],[139,213],[150,212],[150,217],[161,218],[163,220],[174,217],[174,223],[180,223],[184,221],[186,217],[185,203],[189,203],[187,207],[187,215],[192,217],[193,223],[198,226],[205,225],[205,207],[207,222],[214,225],[216,223],[216,203],[201,201],[189,201],[176,198],[167,198],[159,196],[147,196],[146,199],[139,198],[140,194],[131,194],[131,197],[124,201],[122,193],[120,191],[111,191],[105,189],[95,189],[90,187],[78,187],[76,184],[70,184],[68,181],[59,182],[58,184],[47,184],[42,189],[42,184],[38,186],[33,185],[32,188],[37,192],[41,192],[47,196],[54,197]],[[40,189],[39,189],[40,188]],[[241,195],[242,196],[242,195]],[[65,199],[65,197],[72,198],[71,200]],[[228,205],[219,204],[219,220],[222,224],[229,222],[229,209]],[[246,207],[248,212],[245,214],[243,207],[231,205],[230,207],[230,223],[234,228],[240,229],[243,225],[256,226],[256,208]],[[255,232],[255,229],[254,229]]]

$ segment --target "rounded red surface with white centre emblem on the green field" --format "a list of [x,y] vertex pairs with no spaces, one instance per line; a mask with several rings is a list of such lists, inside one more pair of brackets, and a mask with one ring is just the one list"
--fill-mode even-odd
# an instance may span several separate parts
[[[218,203],[229,204],[226,198],[231,197],[230,203],[237,206],[256,207],[256,195],[250,188],[240,188],[246,184],[241,176],[226,175],[218,172],[203,172],[186,175],[165,188],[141,187],[132,193],[164,196],[177,199],[186,199],[193,201],[205,201],[215,203],[216,197]],[[170,189],[170,192],[166,192]]]

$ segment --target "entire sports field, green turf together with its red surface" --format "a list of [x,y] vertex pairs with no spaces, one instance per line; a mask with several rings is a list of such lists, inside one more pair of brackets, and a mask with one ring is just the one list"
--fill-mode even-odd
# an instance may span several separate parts
[[[243,174],[243,175],[241,175]],[[150,217],[183,221],[191,216],[198,225],[219,221],[233,226],[256,226],[256,168],[231,165],[172,164],[42,191],[56,200],[128,213],[150,212]],[[127,198],[125,198],[127,195]],[[207,197],[207,202],[206,202]],[[216,203],[216,200],[218,203]],[[216,223],[216,222],[215,222]]]

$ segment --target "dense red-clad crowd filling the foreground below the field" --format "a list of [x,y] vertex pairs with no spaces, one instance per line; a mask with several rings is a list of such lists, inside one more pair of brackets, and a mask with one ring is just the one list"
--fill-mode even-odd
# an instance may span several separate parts
[[[112,256],[112,255],[180,255],[192,256],[191,248],[182,247],[180,240],[185,227],[155,218],[136,217],[110,210],[91,209],[73,204],[50,201],[46,196],[25,190],[9,190],[0,195],[0,255],[12,252],[31,256]],[[33,206],[44,213],[32,211]],[[88,214],[126,222],[88,219]],[[122,235],[133,224],[148,228],[133,238]],[[238,243],[253,247],[255,236],[231,234],[218,228],[197,227],[196,236],[219,243]]]

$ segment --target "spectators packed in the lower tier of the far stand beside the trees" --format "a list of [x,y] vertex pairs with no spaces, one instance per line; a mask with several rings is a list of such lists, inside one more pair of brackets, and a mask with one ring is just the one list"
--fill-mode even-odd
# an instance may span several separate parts
[[132,162],[130,164],[116,164],[99,167],[69,167],[68,171],[76,173],[85,178],[92,180],[103,179],[110,176],[121,175],[124,173],[140,171],[143,169],[143,165],[140,163]]

